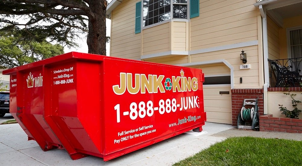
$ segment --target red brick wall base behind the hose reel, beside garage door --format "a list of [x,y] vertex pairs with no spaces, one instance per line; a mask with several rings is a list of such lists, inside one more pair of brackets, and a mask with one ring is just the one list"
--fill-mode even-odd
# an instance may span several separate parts
[[232,89],[232,125],[237,126],[237,117],[243,106],[244,99],[258,100],[259,116],[263,115],[263,89]]

